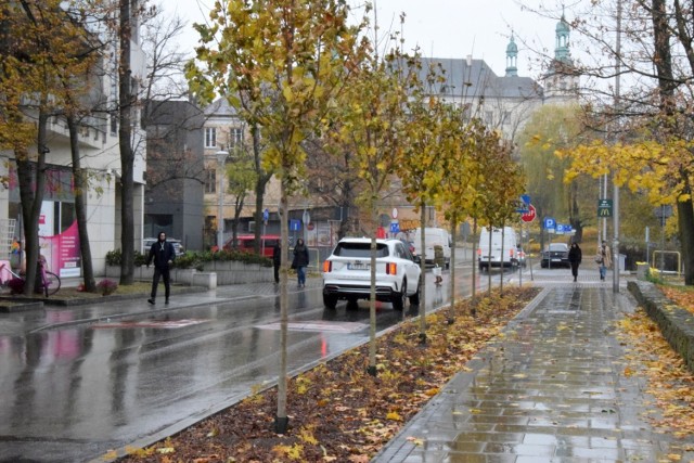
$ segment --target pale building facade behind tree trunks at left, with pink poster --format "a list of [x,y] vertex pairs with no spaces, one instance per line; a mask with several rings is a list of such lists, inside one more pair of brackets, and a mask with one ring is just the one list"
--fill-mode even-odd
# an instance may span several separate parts
[[[132,2],[134,5],[137,2]],[[133,7],[134,11],[134,7]],[[139,24],[133,16],[133,30]],[[104,42],[116,43],[116,41]],[[115,47],[115,46],[114,46]],[[142,51],[139,35],[130,37],[130,67],[133,82],[145,75],[145,54]],[[106,55],[117,56],[115,49],[104,54],[94,74],[94,82],[86,100],[91,112],[81,116],[77,145],[79,146],[81,168],[88,172],[89,189],[83,197],[87,207],[88,233],[97,275],[105,273],[106,253],[120,247],[121,230],[121,188],[120,150],[118,140],[118,69],[117,63]],[[136,89],[137,90],[137,89]],[[28,120],[38,119],[38,110],[27,101],[22,112]],[[39,219],[40,253],[48,259],[49,268],[61,276],[80,276],[81,257],[79,236],[75,216],[75,188],[72,173],[70,137],[66,120],[56,111],[47,125],[44,146],[30,146],[29,157],[36,159],[40,149],[46,153],[46,188]],[[134,241],[142,240],[142,214],[144,198],[145,145],[144,132],[140,129],[140,111],[131,108],[133,120],[131,146],[134,151],[133,165],[133,222]],[[1,151],[0,177],[8,179],[0,188],[0,260],[9,259],[13,266],[20,266],[22,254],[13,255],[8,243],[24,242],[24,223],[20,202],[20,188],[16,176],[15,154]],[[36,169],[36,165],[34,167]]]

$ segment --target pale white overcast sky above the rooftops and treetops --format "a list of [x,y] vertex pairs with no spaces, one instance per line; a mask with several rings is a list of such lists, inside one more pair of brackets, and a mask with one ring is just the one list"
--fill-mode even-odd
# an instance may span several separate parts
[[[406,13],[403,35],[406,49],[419,46],[422,54],[435,57],[464,59],[472,54],[484,59],[493,72],[502,76],[506,67],[506,46],[511,33],[518,46],[518,75],[537,77],[540,69],[532,61],[538,52],[554,53],[554,28],[556,20],[542,17],[522,9],[516,0],[373,0],[377,7],[381,30],[400,30],[399,16]],[[349,4],[360,4],[350,0]],[[525,0],[530,9],[540,4],[557,14],[554,0]],[[189,26],[204,22],[213,0],[166,0],[167,14],[177,12]],[[561,7],[560,7],[561,9]],[[202,12],[201,12],[202,10]],[[203,13],[204,12],[204,13]],[[358,17],[361,17],[362,10]],[[567,11],[570,22],[570,13]],[[373,23],[373,15],[372,15]],[[189,27],[181,47],[192,51],[197,41],[197,33]],[[526,44],[527,43],[527,44]],[[530,48],[532,50],[530,50]],[[531,67],[531,68],[530,68]]]

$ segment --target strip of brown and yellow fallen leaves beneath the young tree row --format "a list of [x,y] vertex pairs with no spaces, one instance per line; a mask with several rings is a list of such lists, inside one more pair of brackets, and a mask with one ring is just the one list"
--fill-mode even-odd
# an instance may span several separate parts
[[[504,288],[453,311],[406,320],[377,338],[377,374],[368,373],[364,344],[287,384],[288,432],[273,430],[277,387],[209,416],[121,462],[368,462],[465,363],[497,336],[540,288]],[[452,320],[452,323],[450,321]]]

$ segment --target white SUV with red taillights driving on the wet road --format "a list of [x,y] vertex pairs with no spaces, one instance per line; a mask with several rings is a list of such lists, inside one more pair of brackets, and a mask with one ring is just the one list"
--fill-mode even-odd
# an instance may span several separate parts
[[[376,300],[396,310],[420,304],[421,270],[400,240],[376,240]],[[323,304],[334,309],[337,300],[351,305],[371,295],[371,239],[345,237],[323,262]]]

